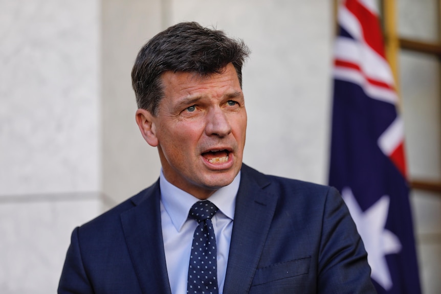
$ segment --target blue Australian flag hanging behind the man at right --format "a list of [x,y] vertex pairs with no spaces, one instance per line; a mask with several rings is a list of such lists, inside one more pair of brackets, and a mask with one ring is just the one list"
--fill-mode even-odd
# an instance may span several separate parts
[[329,185],[341,192],[379,293],[421,293],[403,122],[374,0],[339,7]]

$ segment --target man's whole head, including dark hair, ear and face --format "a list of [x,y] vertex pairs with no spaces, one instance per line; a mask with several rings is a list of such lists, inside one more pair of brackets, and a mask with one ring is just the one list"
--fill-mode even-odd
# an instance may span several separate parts
[[205,199],[240,170],[247,112],[241,66],[248,48],[191,22],[159,33],[132,72],[137,124],[158,147],[165,178]]

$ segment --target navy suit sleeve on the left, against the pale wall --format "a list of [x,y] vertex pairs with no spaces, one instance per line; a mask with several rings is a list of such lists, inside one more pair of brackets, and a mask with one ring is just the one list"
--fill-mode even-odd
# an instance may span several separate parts
[[79,228],[76,228],[72,233],[71,245],[64,261],[58,294],[94,293],[83,267],[78,234]]

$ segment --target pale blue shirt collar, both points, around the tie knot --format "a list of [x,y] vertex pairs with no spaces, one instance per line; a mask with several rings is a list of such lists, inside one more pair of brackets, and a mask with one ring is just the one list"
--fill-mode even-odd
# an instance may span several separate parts
[[[236,204],[236,194],[239,190],[240,171],[230,185],[216,190],[209,198],[211,202],[230,219],[234,219],[234,208]],[[170,184],[161,169],[159,176],[161,189],[161,201],[164,209],[178,232],[181,231],[184,222],[187,220],[188,212],[194,203],[200,199]]]

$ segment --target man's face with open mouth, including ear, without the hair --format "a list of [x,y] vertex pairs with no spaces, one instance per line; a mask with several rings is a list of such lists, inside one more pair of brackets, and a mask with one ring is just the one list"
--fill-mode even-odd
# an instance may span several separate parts
[[[230,63],[208,77],[166,72],[162,82],[165,96],[158,116],[147,112],[144,138],[158,146],[166,179],[205,199],[229,185],[242,164],[247,112],[236,71]],[[138,110],[139,125],[145,113]]]

